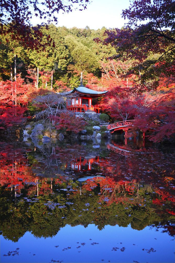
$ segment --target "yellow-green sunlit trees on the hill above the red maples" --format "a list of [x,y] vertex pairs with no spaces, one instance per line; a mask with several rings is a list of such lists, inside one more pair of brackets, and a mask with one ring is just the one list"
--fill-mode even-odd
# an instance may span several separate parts
[[[50,24],[48,30],[42,28],[41,42],[45,44],[44,50],[42,48],[26,50],[20,42],[13,41],[10,34],[1,36],[1,80],[10,78],[11,67],[14,75],[14,56],[16,56],[17,74],[21,73],[22,78],[26,78],[29,69],[35,68],[39,68],[40,72],[54,70],[53,82],[62,78],[68,80],[71,74],[66,74],[73,71],[73,68],[79,71],[86,70],[100,77],[100,61],[106,61],[108,57],[116,54],[115,48],[110,45],[104,46],[93,41],[97,37],[102,38],[105,30],[105,27],[91,30],[88,26],[84,29],[76,27],[68,29]],[[52,40],[49,44],[48,38]],[[42,73],[39,75],[41,76]]]

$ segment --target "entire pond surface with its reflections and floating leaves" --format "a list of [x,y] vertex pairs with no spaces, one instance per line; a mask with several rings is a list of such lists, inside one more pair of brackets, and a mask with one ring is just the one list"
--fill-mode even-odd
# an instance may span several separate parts
[[174,262],[175,151],[0,141],[1,262]]

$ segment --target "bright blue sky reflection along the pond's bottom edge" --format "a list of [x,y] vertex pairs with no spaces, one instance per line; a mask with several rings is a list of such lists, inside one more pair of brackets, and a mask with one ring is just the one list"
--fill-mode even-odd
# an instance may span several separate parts
[[[107,225],[99,231],[94,225],[86,228],[67,225],[56,236],[47,239],[37,239],[27,232],[18,242],[13,243],[1,236],[1,262],[51,262],[52,259],[63,262],[103,262],[102,259],[104,262],[174,262],[174,241],[171,239],[167,233],[161,234],[161,231],[156,232],[149,227],[138,231],[130,226]],[[91,245],[93,242],[99,244]],[[80,248],[77,249],[78,246]],[[19,256],[3,256],[3,253],[7,254],[17,247]],[[62,251],[67,247],[71,249]],[[113,247],[119,249],[114,251]],[[125,248],[123,252],[122,247]],[[156,252],[148,253],[151,247]]]

